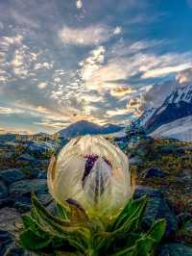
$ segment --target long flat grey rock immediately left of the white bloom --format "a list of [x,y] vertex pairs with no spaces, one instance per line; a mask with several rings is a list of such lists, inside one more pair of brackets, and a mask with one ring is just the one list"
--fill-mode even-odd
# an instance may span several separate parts
[[36,193],[47,193],[47,182],[46,180],[21,180],[11,184],[9,192],[12,196],[23,195],[30,192]]

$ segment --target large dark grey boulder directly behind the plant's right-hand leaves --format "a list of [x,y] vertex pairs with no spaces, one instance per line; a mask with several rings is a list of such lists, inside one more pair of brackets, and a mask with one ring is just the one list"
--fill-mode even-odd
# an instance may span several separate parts
[[178,229],[178,219],[165,200],[163,193],[149,187],[138,186],[133,197],[139,198],[146,194],[149,196],[149,202],[142,219],[143,228],[149,229],[156,219],[165,218],[167,224],[165,235],[172,237]]

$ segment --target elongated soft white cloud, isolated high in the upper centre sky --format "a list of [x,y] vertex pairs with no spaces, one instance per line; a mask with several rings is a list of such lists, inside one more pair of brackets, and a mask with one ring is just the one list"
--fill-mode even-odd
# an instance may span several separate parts
[[113,35],[106,25],[89,25],[84,28],[63,26],[59,38],[63,43],[72,45],[98,45],[108,41]]

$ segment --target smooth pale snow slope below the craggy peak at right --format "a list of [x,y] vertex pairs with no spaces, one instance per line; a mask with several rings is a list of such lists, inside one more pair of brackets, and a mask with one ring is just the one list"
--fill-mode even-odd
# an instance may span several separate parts
[[150,136],[154,138],[173,138],[192,141],[192,115],[177,119],[158,127]]

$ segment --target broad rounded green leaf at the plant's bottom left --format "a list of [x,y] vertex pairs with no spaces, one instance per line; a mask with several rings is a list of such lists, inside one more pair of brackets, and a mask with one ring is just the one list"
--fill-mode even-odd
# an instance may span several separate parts
[[52,242],[50,236],[36,236],[36,234],[31,230],[27,229],[20,235],[20,243],[23,248],[31,251],[36,251],[45,248]]

